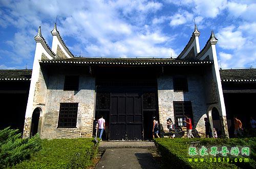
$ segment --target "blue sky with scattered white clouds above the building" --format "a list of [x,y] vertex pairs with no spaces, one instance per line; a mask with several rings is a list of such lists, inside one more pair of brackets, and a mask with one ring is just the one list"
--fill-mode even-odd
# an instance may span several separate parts
[[256,67],[256,2],[0,0],[0,69],[32,68],[38,26],[52,44],[54,22],[74,55],[176,57],[194,31],[200,49],[214,30],[222,68]]

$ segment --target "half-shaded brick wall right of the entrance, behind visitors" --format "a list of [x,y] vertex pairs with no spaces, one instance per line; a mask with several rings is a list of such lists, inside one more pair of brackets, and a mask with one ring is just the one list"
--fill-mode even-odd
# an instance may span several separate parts
[[200,135],[205,133],[204,117],[207,106],[205,103],[204,80],[200,75],[187,75],[188,91],[174,92],[173,77],[163,75],[158,78],[158,104],[160,125],[166,129],[166,119],[174,121],[174,101],[190,101],[193,109],[194,127]]

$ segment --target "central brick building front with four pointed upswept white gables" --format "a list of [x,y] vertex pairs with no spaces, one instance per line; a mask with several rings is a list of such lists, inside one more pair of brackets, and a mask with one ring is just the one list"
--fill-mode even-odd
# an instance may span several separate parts
[[231,118],[237,112],[227,115],[225,102],[228,110],[234,110],[224,96],[230,100],[230,93],[256,93],[255,70],[251,69],[253,74],[247,81],[235,81],[245,73],[235,78],[232,70],[221,70],[220,74],[218,39],[211,32],[200,50],[196,25],[175,59],[75,57],[56,24],[51,33],[52,48],[40,27],[35,36],[23,137],[37,132],[41,138],[92,137],[99,115],[106,120],[106,140],[151,139],[153,116],[159,119],[161,132],[167,131],[167,118],[184,130],[183,120],[188,116],[194,134],[200,137],[204,137],[204,117],[208,117],[211,128],[228,137]]

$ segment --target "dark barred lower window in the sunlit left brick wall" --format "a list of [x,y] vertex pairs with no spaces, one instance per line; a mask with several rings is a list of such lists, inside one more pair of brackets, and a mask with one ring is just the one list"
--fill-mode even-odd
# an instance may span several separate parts
[[59,128],[75,128],[77,119],[78,103],[60,103]]

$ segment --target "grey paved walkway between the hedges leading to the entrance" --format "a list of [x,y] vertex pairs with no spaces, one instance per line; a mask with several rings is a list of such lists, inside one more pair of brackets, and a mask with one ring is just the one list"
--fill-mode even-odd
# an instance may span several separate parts
[[155,149],[106,149],[95,168],[160,168]]

